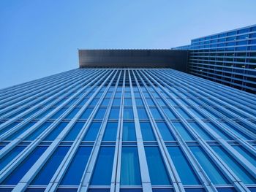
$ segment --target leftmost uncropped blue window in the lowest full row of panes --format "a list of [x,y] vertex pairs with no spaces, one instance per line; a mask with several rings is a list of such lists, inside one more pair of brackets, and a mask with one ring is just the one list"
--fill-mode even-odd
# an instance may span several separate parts
[[17,185],[46,149],[47,147],[36,147],[36,149],[14,171],[12,171],[1,184]]

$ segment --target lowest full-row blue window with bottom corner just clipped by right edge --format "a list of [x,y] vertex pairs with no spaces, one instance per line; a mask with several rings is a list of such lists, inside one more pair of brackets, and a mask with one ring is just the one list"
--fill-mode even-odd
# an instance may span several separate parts
[[211,146],[213,150],[222,158],[223,161],[227,164],[227,166],[232,169],[233,172],[242,180],[243,183],[245,184],[255,184],[256,180],[254,177],[252,177],[249,172],[244,169],[238,162],[231,157],[230,154],[225,152],[222,147],[220,146]]

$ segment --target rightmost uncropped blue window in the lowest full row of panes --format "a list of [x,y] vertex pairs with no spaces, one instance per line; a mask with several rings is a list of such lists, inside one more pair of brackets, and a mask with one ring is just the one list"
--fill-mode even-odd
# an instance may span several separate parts
[[222,172],[214,165],[214,162],[211,161],[211,158],[209,158],[199,146],[191,146],[189,148],[214,185],[229,184]]

